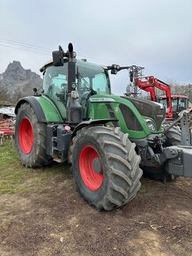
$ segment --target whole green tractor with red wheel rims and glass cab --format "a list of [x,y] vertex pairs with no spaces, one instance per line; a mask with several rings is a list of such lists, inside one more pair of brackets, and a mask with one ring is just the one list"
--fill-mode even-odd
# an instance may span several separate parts
[[168,147],[165,109],[111,94],[108,71],[125,68],[78,60],[71,43],[66,52],[59,47],[41,68],[42,94],[20,99],[15,109],[21,163],[38,168],[69,161],[78,191],[98,210],[135,198],[142,169],[160,177],[192,176],[188,138],[181,138],[184,147]]

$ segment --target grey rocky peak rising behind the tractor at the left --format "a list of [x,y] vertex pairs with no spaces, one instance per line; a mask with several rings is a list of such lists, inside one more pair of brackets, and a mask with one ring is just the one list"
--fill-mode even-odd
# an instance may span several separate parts
[[38,74],[25,70],[18,61],[13,61],[0,74],[0,101],[15,104],[19,98],[33,95],[33,87],[40,89],[41,86],[42,79]]

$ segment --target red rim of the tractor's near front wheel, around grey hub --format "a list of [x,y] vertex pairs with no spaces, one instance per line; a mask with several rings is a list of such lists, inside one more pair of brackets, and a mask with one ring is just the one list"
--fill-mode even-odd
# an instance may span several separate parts
[[100,189],[103,182],[103,170],[100,173],[93,169],[93,161],[100,161],[100,154],[92,146],[85,146],[79,155],[79,170],[85,185],[92,191]]

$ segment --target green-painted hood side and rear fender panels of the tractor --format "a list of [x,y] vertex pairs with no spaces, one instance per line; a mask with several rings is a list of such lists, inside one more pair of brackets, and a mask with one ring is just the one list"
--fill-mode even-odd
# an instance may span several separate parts
[[[66,117],[66,109],[62,102],[53,102],[46,95],[41,97],[35,97],[35,99],[41,104],[41,108],[45,114],[48,123],[63,123]],[[128,133],[130,139],[144,139],[151,133],[159,134],[160,131],[151,132],[148,126],[145,124],[144,117],[141,116],[137,108],[129,100],[116,96],[113,94],[94,94],[88,101],[88,119],[105,119],[111,118],[107,109],[106,103],[110,103],[112,110],[114,111],[115,117],[119,120],[118,124],[121,127],[122,132]],[[60,105],[61,106],[60,106]],[[137,122],[141,125],[142,131],[129,130],[125,120],[122,116],[122,111],[119,105],[126,105],[137,118]],[[145,117],[146,118],[146,117]],[[151,119],[147,117],[148,119]],[[154,123],[155,120],[151,119]]]

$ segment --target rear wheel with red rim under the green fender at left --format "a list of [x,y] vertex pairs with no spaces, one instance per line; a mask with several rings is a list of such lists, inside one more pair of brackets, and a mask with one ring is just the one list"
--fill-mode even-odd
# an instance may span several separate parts
[[38,122],[28,103],[18,109],[15,141],[20,162],[26,167],[37,168],[52,162],[52,158],[46,154],[46,124]]

